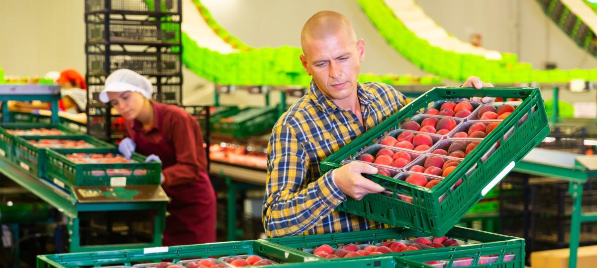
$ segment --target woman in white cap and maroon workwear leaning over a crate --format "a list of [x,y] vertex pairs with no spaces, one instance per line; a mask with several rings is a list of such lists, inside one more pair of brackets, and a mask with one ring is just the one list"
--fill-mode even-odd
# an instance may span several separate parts
[[128,69],[113,71],[100,92],[125,119],[128,138],[118,149],[149,155],[162,163],[162,187],[167,206],[165,246],[216,242],[216,194],[207,174],[207,159],[199,123],[180,107],[150,100],[153,85]]

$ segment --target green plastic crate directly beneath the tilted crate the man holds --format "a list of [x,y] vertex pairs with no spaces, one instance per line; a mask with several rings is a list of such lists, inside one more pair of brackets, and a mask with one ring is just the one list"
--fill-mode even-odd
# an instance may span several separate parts
[[[349,243],[376,244],[378,242],[385,242],[394,239],[413,239],[419,236],[426,235],[424,233],[417,232],[416,230],[404,228],[387,228],[348,233],[327,233],[323,235],[270,238],[266,239],[266,241],[279,244],[284,247],[295,248],[297,250],[306,250],[319,247],[323,244],[331,245],[331,247],[338,247]],[[496,258],[494,263],[491,263],[491,267],[524,268],[525,243],[524,239],[522,238],[515,238],[513,236],[500,235],[497,233],[489,233],[458,226],[451,229],[446,236],[460,239],[464,242],[480,242],[480,244],[460,245],[457,247],[428,248],[418,251],[402,251],[383,255],[404,257],[410,260],[423,262],[445,260],[448,261],[448,265],[446,267],[452,267],[454,260],[461,258],[472,258],[472,265],[466,267],[487,267],[487,264],[479,264],[479,261],[482,260],[481,258],[483,257],[483,260],[485,260],[485,256],[497,254],[498,258]],[[513,257],[513,259],[503,261],[505,255],[509,255],[510,258]],[[356,257],[356,259],[359,258],[368,257]],[[342,259],[336,258],[330,261],[335,262],[337,260]],[[340,264],[338,264],[338,267],[340,267]]]

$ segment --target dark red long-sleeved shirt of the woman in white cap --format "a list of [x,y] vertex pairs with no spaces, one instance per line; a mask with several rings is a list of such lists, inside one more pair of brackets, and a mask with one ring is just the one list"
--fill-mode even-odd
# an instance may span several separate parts
[[[196,119],[176,105],[152,101],[153,126],[149,130],[137,120],[125,121],[128,136],[137,142],[136,152],[143,155],[155,154],[162,160],[164,186],[181,185],[197,179],[209,179],[207,157],[201,127]],[[138,142],[139,141],[139,142]],[[143,148],[149,142],[160,144]],[[176,159],[168,154],[168,147],[174,150]]]

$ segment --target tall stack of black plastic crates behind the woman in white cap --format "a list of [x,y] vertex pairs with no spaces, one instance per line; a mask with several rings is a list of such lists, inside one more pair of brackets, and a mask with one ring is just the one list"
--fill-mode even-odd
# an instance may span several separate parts
[[99,100],[106,77],[120,68],[146,76],[157,101],[181,105],[181,22],[181,0],[85,0],[90,135],[124,136],[122,117]]

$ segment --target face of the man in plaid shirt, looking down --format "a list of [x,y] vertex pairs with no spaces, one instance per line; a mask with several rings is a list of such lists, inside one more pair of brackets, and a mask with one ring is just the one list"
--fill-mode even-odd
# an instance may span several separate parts
[[333,101],[356,92],[356,79],[365,58],[365,43],[355,42],[346,31],[322,39],[309,38],[301,62],[324,95]]

